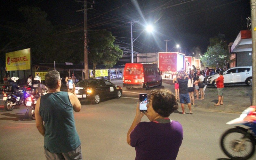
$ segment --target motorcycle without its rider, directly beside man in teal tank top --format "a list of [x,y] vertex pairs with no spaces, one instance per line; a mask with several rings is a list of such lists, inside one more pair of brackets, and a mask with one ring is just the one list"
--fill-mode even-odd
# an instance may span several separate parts
[[[49,91],[48,90],[43,90],[43,95],[47,94]],[[27,91],[28,93],[28,97],[26,98],[26,106],[28,107],[27,108],[27,111],[26,111],[26,115],[28,115],[28,117],[30,119],[33,119],[35,120],[36,117],[35,117],[35,108],[36,108],[36,102],[37,102],[37,99],[41,96],[41,93],[37,94],[37,91]]]

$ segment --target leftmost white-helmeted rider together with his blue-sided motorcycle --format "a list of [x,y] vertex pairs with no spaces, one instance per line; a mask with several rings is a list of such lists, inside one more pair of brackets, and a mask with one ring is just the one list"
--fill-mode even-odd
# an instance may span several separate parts
[[[26,86],[20,89],[18,84],[16,84],[17,80],[19,80],[19,77],[12,77],[11,80],[12,82],[10,85],[12,88],[12,92],[6,94],[6,98],[4,97],[4,99],[6,99],[4,101],[4,108],[7,111],[11,111],[14,108],[14,106],[24,103],[24,99],[28,96],[28,94],[26,94]],[[21,100],[22,97],[24,98]]]

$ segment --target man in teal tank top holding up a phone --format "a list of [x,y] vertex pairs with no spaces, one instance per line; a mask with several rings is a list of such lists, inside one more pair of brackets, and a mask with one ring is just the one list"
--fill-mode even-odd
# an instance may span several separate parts
[[36,127],[44,136],[45,156],[47,159],[83,159],[73,114],[73,110],[81,110],[75,84],[71,92],[61,92],[60,73],[54,70],[45,75],[45,83],[49,93],[37,100],[35,109]]

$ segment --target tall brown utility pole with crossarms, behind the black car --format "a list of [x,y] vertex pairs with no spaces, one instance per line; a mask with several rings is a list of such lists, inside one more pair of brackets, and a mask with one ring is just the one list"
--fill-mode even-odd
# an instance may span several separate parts
[[[75,2],[84,3],[84,9],[77,10],[76,12],[84,11],[84,78],[89,79],[88,51],[87,51],[87,10],[92,9],[92,6],[91,8],[87,9],[87,0],[75,1]],[[89,4],[94,4],[94,1],[93,3],[89,3]]]

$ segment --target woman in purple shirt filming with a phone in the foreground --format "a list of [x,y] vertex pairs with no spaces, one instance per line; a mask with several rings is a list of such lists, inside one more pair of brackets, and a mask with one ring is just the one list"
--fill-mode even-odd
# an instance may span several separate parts
[[[170,120],[169,116],[178,109],[178,103],[167,89],[152,90],[148,102],[146,112],[140,112],[137,104],[126,141],[135,148],[135,159],[175,160],[182,143],[183,129],[178,121]],[[140,122],[144,115],[150,122]]]

